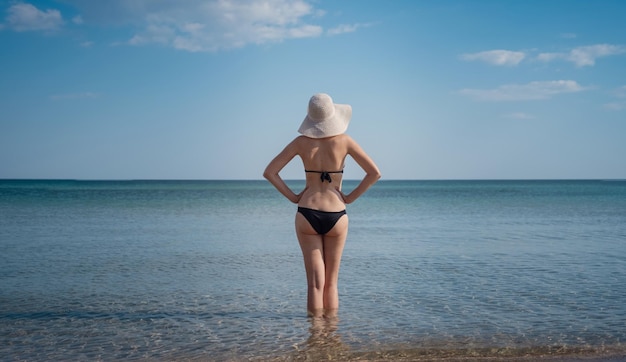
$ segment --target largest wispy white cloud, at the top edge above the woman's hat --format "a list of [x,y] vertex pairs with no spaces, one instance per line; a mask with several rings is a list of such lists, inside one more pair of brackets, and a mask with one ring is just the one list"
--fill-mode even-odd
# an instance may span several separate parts
[[135,27],[130,45],[217,51],[324,34],[314,21],[325,13],[311,0],[67,1],[89,23]]

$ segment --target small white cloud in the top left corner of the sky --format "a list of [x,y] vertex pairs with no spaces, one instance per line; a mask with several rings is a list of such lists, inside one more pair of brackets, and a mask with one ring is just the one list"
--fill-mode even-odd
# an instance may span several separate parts
[[55,9],[45,11],[26,3],[11,5],[7,10],[4,26],[15,31],[53,31],[63,25],[61,12]]

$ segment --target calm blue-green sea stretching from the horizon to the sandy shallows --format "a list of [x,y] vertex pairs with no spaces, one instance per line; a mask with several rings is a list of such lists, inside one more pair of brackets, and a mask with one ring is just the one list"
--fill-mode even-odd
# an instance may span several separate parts
[[626,358],[626,181],[382,180],[347,211],[314,319],[266,181],[0,180],[0,360]]

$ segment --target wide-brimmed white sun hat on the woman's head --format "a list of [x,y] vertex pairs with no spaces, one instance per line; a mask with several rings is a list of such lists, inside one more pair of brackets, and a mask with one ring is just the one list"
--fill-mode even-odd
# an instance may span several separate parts
[[328,94],[318,93],[309,100],[309,111],[298,132],[311,138],[332,137],[344,133],[352,117],[349,104],[336,104]]

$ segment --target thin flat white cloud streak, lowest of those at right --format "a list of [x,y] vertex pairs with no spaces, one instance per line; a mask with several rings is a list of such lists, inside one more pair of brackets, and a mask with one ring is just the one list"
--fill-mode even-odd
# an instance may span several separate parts
[[549,99],[562,93],[585,90],[573,80],[537,81],[507,84],[494,89],[462,89],[459,93],[480,101],[525,101]]

